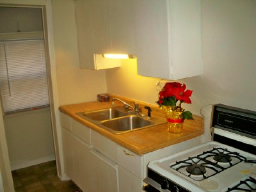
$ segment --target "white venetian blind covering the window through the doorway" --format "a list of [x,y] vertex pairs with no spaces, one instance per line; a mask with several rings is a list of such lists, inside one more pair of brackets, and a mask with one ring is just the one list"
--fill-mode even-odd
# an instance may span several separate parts
[[44,40],[0,42],[4,113],[49,106]]

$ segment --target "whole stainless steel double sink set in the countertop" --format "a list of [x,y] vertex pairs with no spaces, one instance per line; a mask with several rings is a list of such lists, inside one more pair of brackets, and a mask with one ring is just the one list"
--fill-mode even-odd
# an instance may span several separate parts
[[166,122],[161,118],[147,119],[147,116],[132,115],[129,111],[125,111],[122,106],[76,114],[114,134],[145,129]]

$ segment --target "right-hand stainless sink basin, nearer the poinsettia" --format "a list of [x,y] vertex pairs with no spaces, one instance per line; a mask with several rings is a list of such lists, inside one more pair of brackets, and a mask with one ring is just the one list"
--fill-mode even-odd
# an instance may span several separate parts
[[153,125],[154,122],[141,118],[138,116],[124,116],[122,118],[116,118],[113,120],[106,120],[101,122],[101,125],[108,127],[112,131],[131,131],[133,129],[139,129],[141,127],[147,127],[148,125]]

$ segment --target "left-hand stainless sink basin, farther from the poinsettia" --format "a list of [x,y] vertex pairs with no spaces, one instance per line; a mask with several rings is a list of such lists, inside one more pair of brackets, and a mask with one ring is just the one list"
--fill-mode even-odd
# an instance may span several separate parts
[[118,118],[121,116],[126,116],[128,113],[122,111],[122,108],[115,107],[115,108],[108,108],[108,109],[100,109],[97,111],[89,111],[85,113],[77,113],[77,115],[81,117],[90,118],[91,120],[95,121],[102,121],[102,120],[109,120],[113,118]]

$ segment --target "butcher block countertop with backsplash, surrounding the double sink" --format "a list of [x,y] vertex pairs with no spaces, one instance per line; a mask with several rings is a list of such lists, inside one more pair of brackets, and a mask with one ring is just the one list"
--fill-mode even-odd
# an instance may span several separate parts
[[[132,100],[124,97],[116,98],[122,99],[133,106],[131,102]],[[164,118],[164,114],[160,108],[142,102],[138,103],[140,104],[140,108],[142,109],[143,113],[147,114],[147,111],[144,111],[145,109],[143,106],[147,105],[150,106],[150,108],[152,109],[152,116]],[[118,105],[122,105],[122,103],[116,101],[115,106]],[[204,119],[200,116],[193,116],[195,120],[185,120],[183,131],[179,134],[168,132],[167,123],[145,129],[140,129],[138,131],[127,132],[124,134],[113,134],[76,115],[76,113],[79,112],[92,111],[95,109],[104,109],[110,107],[111,102],[95,101],[85,102],[82,104],[70,104],[66,106],[60,106],[59,109],[61,112],[77,120],[77,122],[80,122],[86,127],[89,127],[94,131],[99,132],[109,140],[114,141],[118,145],[121,145],[122,147],[125,147],[138,155],[147,154],[148,152],[152,152],[159,148],[168,147],[170,145],[174,145],[176,143],[180,143],[182,141],[186,141],[204,134]]]

